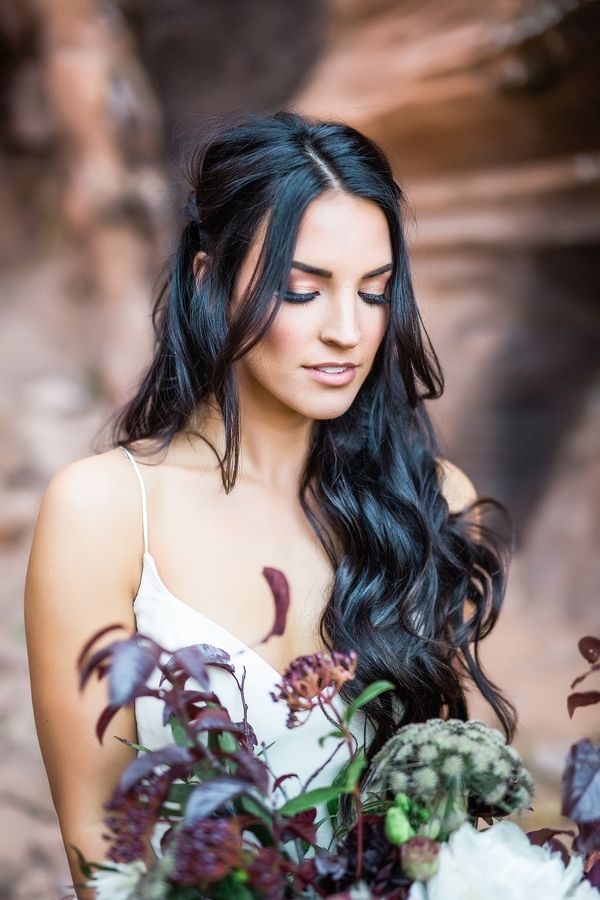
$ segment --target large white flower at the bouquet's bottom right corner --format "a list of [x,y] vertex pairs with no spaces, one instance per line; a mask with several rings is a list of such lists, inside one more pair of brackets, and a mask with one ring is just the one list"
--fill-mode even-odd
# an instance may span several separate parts
[[565,867],[559,853],[535,847],[514,822],[486,831],[465,823],[442,844],[439,869],[426,884],[415,882],[408,900],[600,900],[582,881],[583,861]]

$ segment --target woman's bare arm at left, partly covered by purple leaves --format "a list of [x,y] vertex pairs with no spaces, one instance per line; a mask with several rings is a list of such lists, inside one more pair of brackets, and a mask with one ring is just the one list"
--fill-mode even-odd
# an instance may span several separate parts
[[[70,844],[101,861],[103,804],[135,751],[113,735],[136,740],[132,708],[120,710],[101,745],[95,735],[107,704],[106,681],[78,689],[76,660],[98,629],[122,623],[98,646],[135,627],[132,561],[141,555],[135,487],[112,453],[58,472],[48,485],[33,536],[25,584],[25,630],[35,724],[71,875],[83,881]],[[129,513],[132,515],[129,515]],[[125,514],[127,513],[127,514]],[[92,898],[92,891],[79,891]]]

